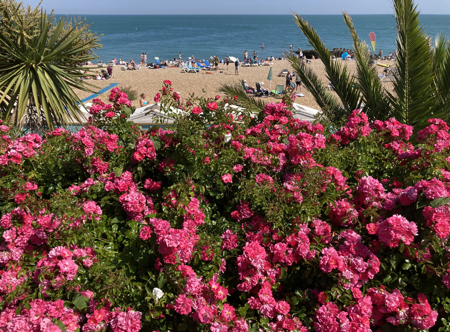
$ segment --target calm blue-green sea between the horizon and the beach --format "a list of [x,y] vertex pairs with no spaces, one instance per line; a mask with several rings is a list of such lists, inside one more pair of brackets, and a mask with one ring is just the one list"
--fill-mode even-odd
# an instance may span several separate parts
[[[103,47],[96,50],[99,60],[119,58],[140,61],[147,53],[147,62],[183,59],[196,60],[226,55],[243,59],[246,50],[256,51],[259,58],[278,57],[294,45],[295,50],[312,47],[296,25],[292,15],[71,15],[86,18],[91,31],[101,37]],[[325,45],[352,49],[352,39],[342,15],[304,15],[316,29]],[[375,52],[384,55],[396,49],[396,23],[393,15],[352,15],[360,39],[369,41],[369,33],[376,36]],[[434,38],[439,33],[450,36],[450,15],[421,15],[420,23]],[[264,49],[261,44],[264,43]]]

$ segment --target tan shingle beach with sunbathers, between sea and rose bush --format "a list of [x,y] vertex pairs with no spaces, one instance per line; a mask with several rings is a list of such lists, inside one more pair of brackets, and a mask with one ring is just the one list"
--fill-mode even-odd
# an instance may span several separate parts
[[[338,60],[341,61],[341,60]],[[355,61],[345,61],[344,65],[348,66],[350,74],[356,74],[356,63]],[[381,61],[381,63],[386,63],[389,65],[395,64],[394,61]],[[322,61],[316,59],[312,60],[309,64],[314,72],[319,76],[319,78],[328,85],[328,79],[325,75],[325,68]],[[291,70],[289,62],[287,60],[276,60],[273,64],[273,79],[272,79],[272,90],[277,87],[277,84],[285,84],[285,77],[278,77],[278,73],[281,72],[283,68]],[[378,73],[383,73],[383,67],[376,66]],[[94,70],[100,70],[101,67],[93,67]],[[106,68],[105,68],[106,69]],[[87,80],[98,89],[93,88],[93,90],[98,91],[112,83],[119,83],[118,87],[131,87],[136,90],[138,96],[141,93],[146,94],[146,99],[149,103],[153,102],[154,95],[159,92],[163,85],[164,80],[170,80],[173,83],[173,88],[175,91],[181,93],[184,99],[186,99],[190,93],[195,93],[196,96],[204,97],[214,97],[217,94],[221,97],[224,96],[223,93],[218,92],[221,83],[238,83],[239,80],[246,80],[247,84],[255,86],[255,82],[264,82],[264,87],[269,89],[270,81],[267,80],[269,73],[269,66],[258,66],[258,67],[242,67],[239,66],[239,76],[235,75],[234,64],[230,63],[229,69],[224,64],[219,64],[219,70],[208,72],[213,74],[206,74],[205,70],[201,70],[200,73],[184,73],[181,68],[160,68],[160,69],[148,69],[143,67],[139,70],[122,70],[121,65],[116,65],[113,68],[114,78],[109,80]],[[295,82],[295,78],[292,80]],[[391,90],[392,83],[383,83],[383,86]],[[205,89],[206,92],[202,92]],[[305,97],[297,97],[296,103],[304,106],[312,107],[318,109],[318,105],[314,98],[311,96],[309,91],[303,86],[302,90]],[[78,97],[80,99],[88,97],[91,93],[84,91],[77,91]],[[107,101],[109,97],[109,91],[100,97],[103,101]],[[268,102],[280,102],[280,97],[266,97],[264,101]],[[140,107],[139,97],[137,100],[132,102],[133,106]]]

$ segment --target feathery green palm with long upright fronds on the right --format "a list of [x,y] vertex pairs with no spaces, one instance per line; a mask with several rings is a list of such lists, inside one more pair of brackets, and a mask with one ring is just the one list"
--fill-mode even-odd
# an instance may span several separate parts
[[362,110],[373,120],[390,117],[419,130],[433,117],[447,117],[450,109],[450,49],[443,35],[432,48],[429,36],[419,22],[419,11],[413,0],[394,0],[397,21],[398,75],[393,82],[394,93],[386,91],[378,79],[369,55],[368,45],[356,34],[350,15],[344,21],[353,39],[356,77],[350,77],[340,61],[332,61],[328,49],[309,23],[294,13],[294,20],[306,39],[319,54],[326,75],[334,87],[330,93],[317,76],[294,54],[288,60],[322,110],[338,122],[354,109]]

